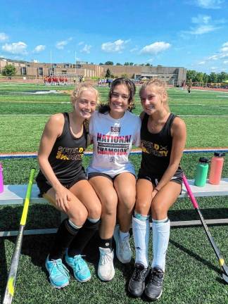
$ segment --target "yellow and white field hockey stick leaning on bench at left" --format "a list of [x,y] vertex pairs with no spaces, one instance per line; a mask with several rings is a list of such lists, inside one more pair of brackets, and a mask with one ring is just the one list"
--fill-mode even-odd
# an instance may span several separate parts
[[29,180],[29,183],[27,184],[27,192],[26,192],[26,196],[25,196],[23,214],[21,215],[21,219],[20,219],[20,227],[19,227],[16,242],[15,242],[12,260],[11,260],[11,268],[8,273],[8,280],[7,280],[3,304],[11,304],[12,299],[13,299],[15,279],[16,279],[16,275],[17,275],[17,271],[18,271],[18,263],[19,263],[19,258],[20,258],[21,246],[23,243],[23,232],[24,232],[25,224],[26,224],[26,220],[27,220],[27,211],[28,211],[28,207],[30,204],[30,196],[31,196],[31,192],[32,192],[32,182],[34,179],[34,172],[35,172],[35,170],[32,169],[30,172],[30,180]]

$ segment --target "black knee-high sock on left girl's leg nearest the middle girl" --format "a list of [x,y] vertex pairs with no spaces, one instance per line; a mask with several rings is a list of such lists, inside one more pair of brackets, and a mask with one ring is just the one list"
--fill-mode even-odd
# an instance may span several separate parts
[[74,237],[70,243],[70,247],[68,248],[68,255],[70,257],[74,257],[75,255],[80,255],[82,253],[84,247],[87,246],[87,243],[89,243],[97,229],[99,229],[99,224],[100,220],[97,220],[97,222],[91,222],[87,219],[84,222],[80,232],[78,232]]

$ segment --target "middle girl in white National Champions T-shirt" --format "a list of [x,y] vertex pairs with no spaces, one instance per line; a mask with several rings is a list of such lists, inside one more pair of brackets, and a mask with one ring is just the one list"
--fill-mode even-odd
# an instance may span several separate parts
[[[114,228],[118,260],[127,263],[132,258],[129,227],[135,204],[136,177],[129,153],[132,144],[140,144],[141,127],[140,118],[130,112],[134,94],[135,86],[130,80],[114,80],[108,104],[100,106],[89,124],[94,152],[87,171],[102,205],[98,275],[103,281],[110,281],[115,275]],[[119,225],[115,227],[116,217]]]

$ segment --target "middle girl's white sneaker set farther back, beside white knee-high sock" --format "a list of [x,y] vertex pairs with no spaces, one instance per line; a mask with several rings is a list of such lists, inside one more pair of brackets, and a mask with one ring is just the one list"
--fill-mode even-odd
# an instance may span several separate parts
[[116,225],[113,237],[116,245],[116,256],[123,264],[130,262],[132,259],[132,249],[129,246],[129,234],[123,241],[120,241],[120,226]]

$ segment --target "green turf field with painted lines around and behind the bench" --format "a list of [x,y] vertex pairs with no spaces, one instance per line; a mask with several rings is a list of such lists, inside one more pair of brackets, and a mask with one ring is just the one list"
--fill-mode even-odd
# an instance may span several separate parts
[[[34,94],[44,90],[67,91],[72,87],[44,87],[33,84],[0,84],[0,153],[37,151],[39,139],[49,115],[68,111],[70,96]],[[101,100],[106,101],[108,88],[99,88]],[[191,94],[180,89],[169,89],[170,109],[186,122],[188,138],[186,148],[227,147],[228,94],[215,91],[196,91]],[[141,112],[139,97],[135,100],[134,113]],[[186,176],[194,178],[198,158],[211,157],[213,153],[184,154],[182,167]],[[131,156],[136,170],[140,156]],[[84,157],[87,166],[89,157]],[[4,159],[5,184],[27,182],[30,168],[36,167],[32,158]],[[228,162],[224,163],[223,177],[228,177]],[[198,198],[205,218],[228,217],[228,201],[225,197]],[[18,229],[21,207],[1,207],[1,230]],[[195,211],[188,199],[178,200],[170,210],[171,220],[196,220]],[[49,205],[31,205],[26,229],[57,227],[60,217]],[[224,259],[228,263],[228,227],[214,226],[210,231],[215,237]],[[44,261],[49,253],[53,234],[25,236],[18,267],[13,303],[20,304],[84,304],[84,303],[144,303],[145,298],[134,299],[127,293],[127,282],[132,274],[134,260],[122,265],[115,260],[113,281],[101,282],[96,276],[96,263],[89,263],[92,273],[90,282],[80,284],[72,275],[70,285],[63,290],[51,288]],[[133,247],[133,240],[132,248]],[[7,272],[15,237],[0,238],[0,298],[6,287]],[[151,255],[151,252],[150,252]],[[1,300],[0,300],[1,301]],[[167,252],[167,268],[161,304],[227,304],[228,286],[220,279],[220,269],[213,248],[202,227],[172,228]]]

